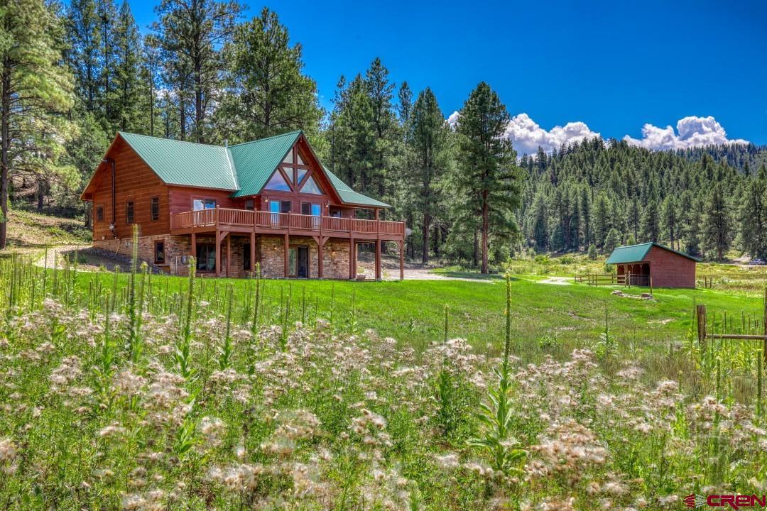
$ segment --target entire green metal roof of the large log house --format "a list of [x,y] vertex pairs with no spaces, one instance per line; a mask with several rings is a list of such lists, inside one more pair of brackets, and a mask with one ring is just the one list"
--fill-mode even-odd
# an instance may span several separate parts
[[[301,131],[229,147],[133,133],[120,132],[120,136],[163,182],[170,185],[232,190],[232,197],[246,197],[261,192],[288,150],[301,136]],[[344,203],[376,208],[389,207],[384,202],[354,192],[324,165],[323,169]]]

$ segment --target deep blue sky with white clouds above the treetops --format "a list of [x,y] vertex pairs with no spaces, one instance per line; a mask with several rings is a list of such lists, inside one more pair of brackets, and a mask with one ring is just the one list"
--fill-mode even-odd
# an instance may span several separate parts
[[[130,0],[142,31],[155,4]],[[249,3],[245,16],[262,5]],[[522,149],[593,133],[649,147],[720,141],[724,131],[726,139],[767,143],[767,2],[278,0],[268,7],[303,44],[324,106],[341,74],[363,72],[378,56],[397,84],[431,87],[446,116],[486,80],[512,116],[526,114],[509,129]]]

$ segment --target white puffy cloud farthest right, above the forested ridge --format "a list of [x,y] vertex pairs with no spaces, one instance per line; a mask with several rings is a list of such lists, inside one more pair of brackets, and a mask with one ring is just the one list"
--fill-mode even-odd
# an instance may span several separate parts
[[727,133],[713,116],[689,116],[676,123],[676,132],[671,126],[659,128],[652,124],[642,126],[642,138],[624,136],[624,140],[634,146],[652,150],[686,149],[695,146],[713,144],[747,144],[743,139],[728,139]]

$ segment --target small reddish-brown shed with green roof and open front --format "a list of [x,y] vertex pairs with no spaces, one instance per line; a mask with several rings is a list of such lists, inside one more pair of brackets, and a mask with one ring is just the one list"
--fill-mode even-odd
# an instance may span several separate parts
[[617,281],[630,286],[695,287],[700,259],[660,243],[617,247],[607,264],[617,266]]

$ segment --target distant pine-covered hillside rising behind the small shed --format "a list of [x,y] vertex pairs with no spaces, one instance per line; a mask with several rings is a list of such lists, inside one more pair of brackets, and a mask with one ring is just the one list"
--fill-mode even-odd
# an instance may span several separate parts
[[541,251],[663,241],[716,260],[731,247],[764,257],[767,170],[746,175],[727,164],[732,148],[720,149],[719,162],[712,149],[650,152],[592,139],[522,156],[525,237]]

